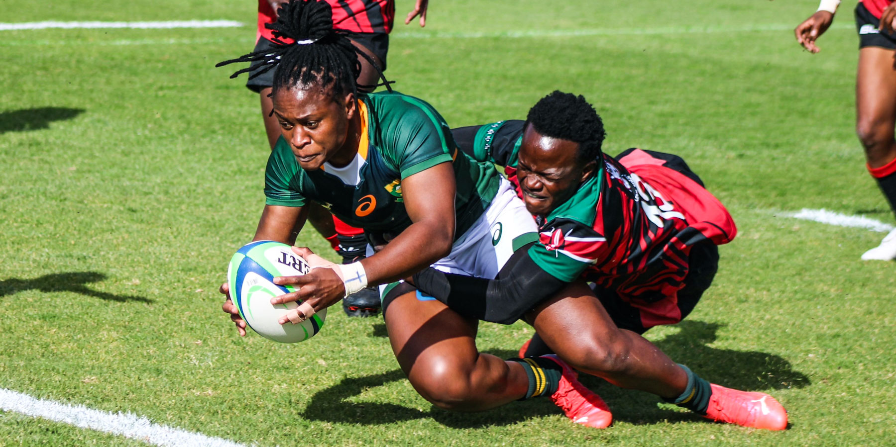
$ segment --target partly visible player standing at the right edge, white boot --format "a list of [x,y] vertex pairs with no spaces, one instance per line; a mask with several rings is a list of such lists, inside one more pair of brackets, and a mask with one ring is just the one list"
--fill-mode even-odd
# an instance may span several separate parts
[[[812,53],[815,40],[831,26],[840,0],[822,0],[818,11],[797,26],[797,41]],[[856,81],[856,132],[865,147],[866,167],[896,212],[896,4],[861,0],[856,6],[859,37]],[[881,245],[862,254],[864,260],[896,259],[896,229]]]

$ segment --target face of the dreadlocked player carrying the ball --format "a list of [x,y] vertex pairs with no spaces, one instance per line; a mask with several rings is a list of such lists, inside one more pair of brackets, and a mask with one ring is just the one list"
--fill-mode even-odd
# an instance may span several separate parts
[[320,168],[324,161],[346,151],[349,120],[355,113],[352,93],[334,99],[316,86],[308,90],[293,87],[277,90],[272,99],[280,131],[302,169]]

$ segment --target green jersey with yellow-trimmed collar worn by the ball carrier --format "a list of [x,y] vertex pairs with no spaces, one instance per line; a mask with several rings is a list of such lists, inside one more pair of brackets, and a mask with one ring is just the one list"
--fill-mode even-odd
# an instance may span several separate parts
[[[358,96],[362,138],[359,181],[343,180],[329,164],[306,172],[289,143],[277,142],[265,171],[268,205],[303,206],[318,202],[345,223],[391,238],[411,221],[405,211],[401,180],[426,168],[451,162],[457,193],[454,199],[455,240],[486,210],[497,193],[499,175],[491,163],[480,163],[458,150],[451,129],[435,108],[398,92]],[[328,172],[330,171],[330,172]]]

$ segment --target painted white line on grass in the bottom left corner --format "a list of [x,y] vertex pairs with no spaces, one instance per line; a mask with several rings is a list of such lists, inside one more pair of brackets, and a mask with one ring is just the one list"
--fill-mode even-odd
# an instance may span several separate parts
[[100,432],[119,434],[145,443],[166,447],[180,447],[184,445],[246,447],[244,444],[234,443],[226,439],[153,424],[146,417],[137,417],[131,413],[109,413],[82,405],[66,405],[53,400],[35,399],[28,394],[4,388],[0,388],[0,409],[22,413],[31,417],[43,417],[72,426],[99,430]]

